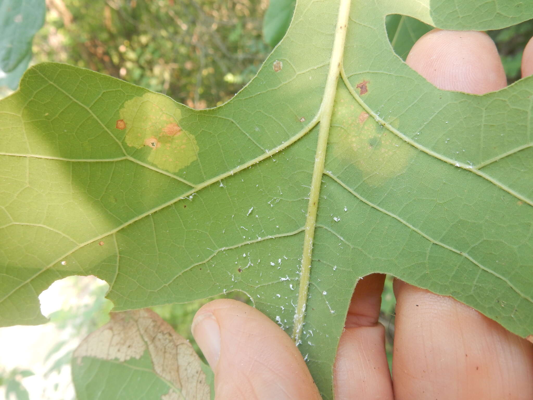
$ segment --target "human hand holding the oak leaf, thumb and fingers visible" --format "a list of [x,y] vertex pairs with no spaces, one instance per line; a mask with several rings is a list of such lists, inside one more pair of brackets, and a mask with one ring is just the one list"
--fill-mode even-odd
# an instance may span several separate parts
[[[522,76],[533,74],[533,41]],[[506,86],[484,33],[433,30],[408,65],[440,89],[482,94]],[[384,275],[358,282],[334,367],[335,399],[533,399],[533,344],[458,301],[395,281],[392,379],[377,322]],[[300,351],[260,311],[235,300],[198,310],[193,335],[215,372],[217,400],[314,400],[320,395]]]

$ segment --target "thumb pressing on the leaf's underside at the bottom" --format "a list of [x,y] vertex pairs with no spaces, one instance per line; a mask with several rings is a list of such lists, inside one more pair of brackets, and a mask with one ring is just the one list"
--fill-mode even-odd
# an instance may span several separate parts
[[255,308],[211,301],[191,330],[215,373],[216,400],[321,398],[294,342]]

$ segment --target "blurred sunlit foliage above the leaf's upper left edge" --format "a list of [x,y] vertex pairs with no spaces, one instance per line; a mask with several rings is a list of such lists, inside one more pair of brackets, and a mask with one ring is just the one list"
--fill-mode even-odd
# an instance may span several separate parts
[[189,107],[229,100],[271,50],[268,0],[47,0],[34,61],[66,62]]

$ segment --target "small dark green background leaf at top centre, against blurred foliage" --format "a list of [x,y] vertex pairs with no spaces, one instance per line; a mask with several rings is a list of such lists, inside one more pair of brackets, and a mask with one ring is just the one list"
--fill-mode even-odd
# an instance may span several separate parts
[[272,47],[283,38],[293,17],[296,0],[271,0],[263,19],[263,38]]

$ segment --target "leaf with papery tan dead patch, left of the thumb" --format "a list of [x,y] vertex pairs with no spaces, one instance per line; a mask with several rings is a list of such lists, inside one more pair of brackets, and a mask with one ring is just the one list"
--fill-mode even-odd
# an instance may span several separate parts
[[95,393],[117,400],[213,397],[206,366],[190,343],[149,309],[111,313],[111,321],[88,335],[73,358],[79,400]]

